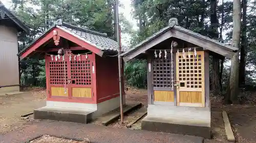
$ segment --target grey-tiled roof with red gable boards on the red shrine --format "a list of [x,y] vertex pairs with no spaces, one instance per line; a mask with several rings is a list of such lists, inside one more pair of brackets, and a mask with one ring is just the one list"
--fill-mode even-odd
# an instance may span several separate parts
[[[108,38],[105,33],[91,31],[86,28],[57,20],[56,24],[51,26],[46,32],[41,34],[17,55],[20,59],[24,59],[34,53],[43,52],[38,50],[38,48],[46,46],[47,43],[53,39],[54,31],[57,31],[57,35],[59,35],[60,38],[67,39],[79,45],[81,48],[88,49],[99,56],[103,56],[104,54],[117,54],[118,43],[113,39]],[[57,47],[62,48],[61,45],[58,45]],[[124,50],[126,47],[123,46],[122,49]],[[47,49],[45,49],[45,51],[47,51]]]

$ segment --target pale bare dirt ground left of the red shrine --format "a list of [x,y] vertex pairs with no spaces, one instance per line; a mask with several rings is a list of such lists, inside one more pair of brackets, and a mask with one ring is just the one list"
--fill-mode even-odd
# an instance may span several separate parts
[[0,96],[0,134],[12,131],[30,122],[22,120],[20,115],[45,106],[44,91],[30,91],[11,96]]

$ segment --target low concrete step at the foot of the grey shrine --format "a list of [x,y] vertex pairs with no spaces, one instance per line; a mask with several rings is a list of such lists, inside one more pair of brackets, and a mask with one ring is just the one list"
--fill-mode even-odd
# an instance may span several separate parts
[[141,129],[210,138],[210,123],[199,119],[146,116]]

